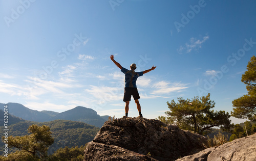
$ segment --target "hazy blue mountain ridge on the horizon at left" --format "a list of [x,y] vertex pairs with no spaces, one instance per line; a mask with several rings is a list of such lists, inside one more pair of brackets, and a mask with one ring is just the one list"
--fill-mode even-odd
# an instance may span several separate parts
[[6,104],[8,105],[9,114],[28,121],[49,122],[53,120],[71,120],[88,123],[96,127],[101,127],[106,121],[105,116],[101,117],[93,109],[89,109],[83,106],[76,106],[75,108],[65,112],[57,113],[54,111],[46,110],[32,110],[20,103],[0,103],[1,106]]

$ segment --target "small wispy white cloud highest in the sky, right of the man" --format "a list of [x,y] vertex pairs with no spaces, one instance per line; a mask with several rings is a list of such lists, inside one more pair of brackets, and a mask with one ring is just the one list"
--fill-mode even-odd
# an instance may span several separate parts
[[206,35],[203,37],[202,40],[199,40],[197,38],[190,38],[189,43],[185,43],[185,45],[181,45],[178,49],[178,53],[182,53],[184,50],[186,50],[186,53],[191,52],[192,50],[197,51],[199,48],[202,48],[202,44],[209,39],[209,36]]

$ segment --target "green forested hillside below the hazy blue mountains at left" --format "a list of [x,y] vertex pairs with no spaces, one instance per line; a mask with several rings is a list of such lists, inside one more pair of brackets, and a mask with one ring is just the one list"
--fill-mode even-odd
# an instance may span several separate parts
[[[52,154],[59,148],[84,146],[86,143],[93,140],[100,128],[87,123],[78,121],[67,121],[67,120],[54,120],[50,122],[32,122],[32,121],[19,121],[15,124],[8,126],[9,136],[25,136],[29,135],[29,126],[36,124],[38,126],[47,125],[52,131],[52,136],[54,138],[53,145],[49,148],[49,153]],[[0,130],[3,131],[4,127],[1,126]],[[0,143],[0,147],[4,148],[4,143]],[[9,149],[12,152],[14,149]],[[1,151],[2,155],[3,152]]]

